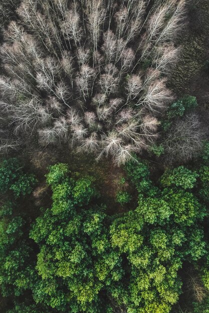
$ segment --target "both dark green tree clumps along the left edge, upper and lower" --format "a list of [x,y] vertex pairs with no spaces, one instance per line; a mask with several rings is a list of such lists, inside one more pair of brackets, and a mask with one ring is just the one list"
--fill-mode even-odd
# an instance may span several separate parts
[[[31,285],[34,261],[16,198],[30,194],[37,180],[33,174],[23,172],[16,158],[4,160],[0,173],[0,190],[5,199],[0,208],[0,286],[4,296],[20,295]],[[15,198],[10,193],[5,195],[9,190]]]

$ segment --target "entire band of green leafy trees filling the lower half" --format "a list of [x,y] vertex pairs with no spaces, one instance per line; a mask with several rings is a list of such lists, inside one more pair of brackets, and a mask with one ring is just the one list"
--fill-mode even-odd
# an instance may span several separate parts
[[[209,290],[207,158],[205,144],[195,170],[168,168],[155,184],[148,163],[134,157],[125,165],[125,179],[138,192],[137,207],[112,216],[93,177],[71,173],[64,163],[52,165],[46,175],[52,206],[42,208],[30,233],[17,198],[31,192],[35,178],[24,173],[24,192],[10,195],[13,203],[5,195],[1,207],[2,294],[15,298],[18,312],[168,313],[181,293],[179,270],[185,262]],[[21,180],[19,166],[14,158],[2,163],[7,181],[2,194],[16,190],[11,185]],[[127,205],[131,195],[120,191],[116,201]],[[19,295],[27,290],[32,298],[26,296],[24,304]],[[203,293],[201,305],[207,299]]]

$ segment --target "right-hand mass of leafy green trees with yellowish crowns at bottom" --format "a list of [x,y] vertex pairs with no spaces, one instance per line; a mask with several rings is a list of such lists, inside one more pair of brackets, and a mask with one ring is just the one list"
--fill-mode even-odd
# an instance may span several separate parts
[[[126,165],[139,191],[138,206],[113,221],[111,243],[129,264],[128,306],[140,313],[169,312],[180,294],[182,262],[195,262],[206,253],[200,225],[205,207],[191,191],[198,175],[185,167],[167,170],[156,189],[147,166],[138,161],[132,168]],[[144,192],[142,180],[156,192]],[[122,293],[118,297],[124,299]]]

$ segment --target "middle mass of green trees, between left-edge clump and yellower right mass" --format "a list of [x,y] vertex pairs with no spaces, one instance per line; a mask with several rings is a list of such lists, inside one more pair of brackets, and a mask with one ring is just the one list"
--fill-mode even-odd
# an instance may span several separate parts
[[50,168],[53,205],[30,233],[40,247],[34,297],[58,310],[99,312],[105,304],[100,307],[98,293],[121,277],[121,260],[108,240],[104,207],[90,206],[96,195],[92,178],[75,181],[67,172],[65,164]]

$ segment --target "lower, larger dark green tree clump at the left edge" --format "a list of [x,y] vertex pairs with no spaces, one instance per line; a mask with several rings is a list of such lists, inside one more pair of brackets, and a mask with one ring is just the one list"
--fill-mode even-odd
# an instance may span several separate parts
[[[9,205],[9,204],[7,204]],[[11,204],[12,205],[12,204]],[[20,295],[30,286],[32,249],[24,237],[25,222],[21,216],[12,216],[12,208],[0,219],[0,285],[2,294]]]

